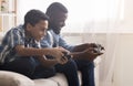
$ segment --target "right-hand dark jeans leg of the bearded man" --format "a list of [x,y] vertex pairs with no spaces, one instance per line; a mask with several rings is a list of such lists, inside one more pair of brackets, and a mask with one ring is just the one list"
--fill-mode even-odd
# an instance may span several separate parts
[[94,63],[83,60],[75,60],[75,63],[82,74],[82,86],[95,86]]

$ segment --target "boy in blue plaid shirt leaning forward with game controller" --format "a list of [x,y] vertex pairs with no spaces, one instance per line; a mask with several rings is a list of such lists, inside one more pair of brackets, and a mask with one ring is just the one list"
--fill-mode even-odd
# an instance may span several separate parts
[[[24,15],[24,24],[7,32],[1,43],[0,63],[3,69],[21,73],[30,78],[54,75],[52,66],[68,62],[62,49],[41,49],[40,40],[48,29],[48,15],[39,10],[30,10]],[[54,60],[47,60],[51,55]],[[62,58],[62,56],[64,56]],[[50,74],[50,72],[51,74]]]

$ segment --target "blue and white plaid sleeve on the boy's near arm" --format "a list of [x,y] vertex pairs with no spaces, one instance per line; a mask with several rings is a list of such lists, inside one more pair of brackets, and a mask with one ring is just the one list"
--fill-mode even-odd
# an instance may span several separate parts
[[14,47],[17,45],[24,45],[24,39],[21,31],[18,31],[18,29],[11,29],[7,34],[4,35],[2,40],[2,49],[0,53],[0,63],[4,63],[6,57],[10,57],[8,61],[14,60],[17,53],[14,51]]

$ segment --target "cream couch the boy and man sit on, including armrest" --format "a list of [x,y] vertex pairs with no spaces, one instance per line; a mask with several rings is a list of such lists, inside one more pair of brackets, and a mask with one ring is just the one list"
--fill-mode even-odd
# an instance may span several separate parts
[[[80,72],[79,78],[81,78]],[[0,86],[68,86],[68,82],[61,73],[50,78],[30,79],[19,73],[0,71]]]

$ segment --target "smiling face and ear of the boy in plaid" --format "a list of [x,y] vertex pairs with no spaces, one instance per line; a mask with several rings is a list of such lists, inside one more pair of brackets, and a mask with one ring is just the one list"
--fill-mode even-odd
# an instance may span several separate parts
[[41,20],[34,26],[31,24],[27,26],[28,35],[34,37],[37,41],[40,41],[47,34],[47,29],[48,20]]

